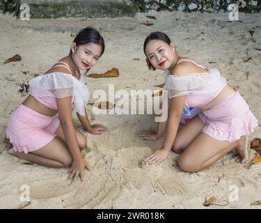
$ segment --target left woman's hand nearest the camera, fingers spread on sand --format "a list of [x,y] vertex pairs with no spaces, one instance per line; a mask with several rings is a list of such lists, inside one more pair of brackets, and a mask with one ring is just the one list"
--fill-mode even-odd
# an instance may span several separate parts
[[81,182],[84,180],[84,168],[91,170],[88,162],[84,159],[84,157],[79,158],[79,160],[73,160],[70,171],[68,171],[69,180],[76,180],[78,176],[81,178]]

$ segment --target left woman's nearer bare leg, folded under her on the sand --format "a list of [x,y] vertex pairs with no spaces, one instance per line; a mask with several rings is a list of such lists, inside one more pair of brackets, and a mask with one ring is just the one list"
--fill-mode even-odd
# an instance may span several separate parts
[[10,149],[8,153],[45,167],[70,167],[72,164],[72,155],[68,146],[58,137],[54,137],[47,145],[31,153],[15,152],[13,149]]

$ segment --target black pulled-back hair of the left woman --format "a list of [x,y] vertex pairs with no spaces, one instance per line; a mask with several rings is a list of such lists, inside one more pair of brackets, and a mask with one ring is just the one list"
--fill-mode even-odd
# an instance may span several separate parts
[[94,29],[93,27],[86,27],[84,29],[81,29],[77,36],[73,40],[76,45],[84,45],[87,43],[94,43],[97,45],[100,45],[102,48],[102,52],[100,56],[104,53],[105,45],[104,45],[104,39],[100,35],[100,33]]

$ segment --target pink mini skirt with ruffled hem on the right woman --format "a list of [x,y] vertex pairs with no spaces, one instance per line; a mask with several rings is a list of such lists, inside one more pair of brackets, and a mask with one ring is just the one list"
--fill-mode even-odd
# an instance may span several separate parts
[[223,141],[236,141],[258,126],[258,120],[238,91],[198,116],[206,124],[203,132]]

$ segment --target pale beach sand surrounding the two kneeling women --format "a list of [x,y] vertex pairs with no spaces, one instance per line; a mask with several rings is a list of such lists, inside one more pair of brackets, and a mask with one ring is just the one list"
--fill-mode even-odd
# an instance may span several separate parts
[[[145,155],[160,148],[163,141],[135,137],[137,130],[155,128],[152,115],[95,115],[88,105],[91,122],[109,128],[102,135],[91,135],[79,127],[74,114],[76,128],[88,138],[90,151],[84,151],[84,157],[94,168],[85,172],[84,183],[78,180],[70,185],[67,169],[19,160],[7,153],[2,142],[10,112],[26,98],[26,93],[19,92],[22,84],[66,56],[74,33],[88,25],[99,29],[106,43],[104,55],[91,72],[103,73],[113,67],[120,72],[118,78],[86,77],[91,95],[96,89],[108,92],[108,84],[115,84],[115,91],[158,89],[155,85],[164,82],[162,72],[145,66],[143,41],[152,31],[164,31],[178,54],[218,68],[228,83],[237,86],[260,120],[261,14],[239,13],[239,20],[230,22],[227,13],[155,11],[134,18],[95,20],[21,21],[0,14],[0,208],[260,208],[251,202],[261,200],[261,164],[246,169],[232,158],[235,152],[195,174],[180,171],[178,155],[173,152],[158,166],[143,165]],[[140,24],[143,22],[154,24]],[[22,56],[22,61],[3,64],[15,54]],[[261,137],[260,125],[250,135],[250,139],[255,137]],[[248,152],[250,161],[256,153]],[[21,201],[23,185],[29,186],[31,203]],[[203,206],[212,196],[217,199],[215,204]]]

